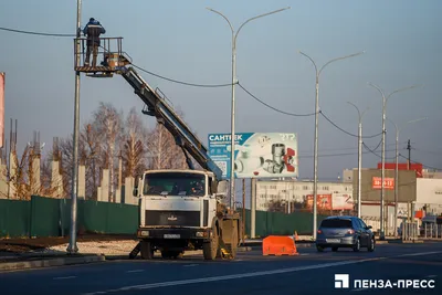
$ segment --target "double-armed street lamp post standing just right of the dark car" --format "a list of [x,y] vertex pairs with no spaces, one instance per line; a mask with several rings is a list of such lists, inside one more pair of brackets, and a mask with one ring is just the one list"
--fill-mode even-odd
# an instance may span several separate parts
[[407,91],[407,89],[411,89],[411,88],[415,88],[415,85],[409,86],[409,87],[403,87],[397,91],[393,91],[392,93],[390,93],[388,96],[386,96],[383,94],[383,91],[372,84],[372,83],[368,83],[368,85],[370,85],[371,87],[375,87],[376,89],[378,89],[378,92],[381,94],[382,96],[382,170],[381,170],[381,190],[380,190],[380,214],[379,214],[379,219],[380,219],[380,240],[385,240],[385,232],[383,232],[383,198],[385,198],[385,191],[383,191],[383,179],[385,179],[385,175],[386,175],[386,107],[387,107],[387,102],[388,98],[391,97],[391,95],[393,95],[394,93],[398,92],[402,92],[402,91]]

